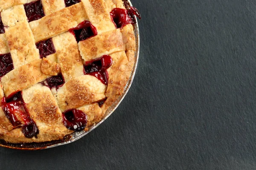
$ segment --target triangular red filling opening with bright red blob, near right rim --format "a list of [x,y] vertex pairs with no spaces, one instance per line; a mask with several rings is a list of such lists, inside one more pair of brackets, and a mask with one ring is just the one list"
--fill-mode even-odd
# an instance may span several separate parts
[[109,55],[103,55],[93,62],[87,62],[84,65],[84,73],[97,77],[103,84],[108,85],[107,69],[112,65],[112,58]]

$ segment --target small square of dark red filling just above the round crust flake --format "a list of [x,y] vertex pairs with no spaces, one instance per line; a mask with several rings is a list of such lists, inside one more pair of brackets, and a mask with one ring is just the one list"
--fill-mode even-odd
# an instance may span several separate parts
[[56,52],[52,42],[52,38],[45,41],[38,42],[36,44],[36,48],[38,48],[41,58],[46,57],[50,54],[54,54]]

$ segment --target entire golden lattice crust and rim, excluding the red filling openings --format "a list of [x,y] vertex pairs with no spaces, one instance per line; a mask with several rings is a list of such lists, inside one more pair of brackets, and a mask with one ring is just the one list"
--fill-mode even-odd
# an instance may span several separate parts
[[[62,112],[73,108],[87,115],[85,130],[89,130],[123,94],[134,67],[133,26],[128,24],[116,29],[109,15],[113,8],[125,8],[122,0],[81,0],[67,8],[63,0],[42,0],[46,16],[28,23],[22,6],[32,1],[0,0],[3,23],[8,26],[6,33],[0,34],[0,54],[10,52],[15,65],[14,70],[0,79],[0,99],[22,91],[29,115],[39,129],[38,138],[26,138],[21,128],[14,128],[0,108],[0,139],[10,143],[63,139],[73,131],[64,126]],[[84,20],[89,20],[98,34],[77,43],[68,30]],[[23,40],[17,28],[29,29],[29,36]],[[56,53],[40,59],[35,43],[49,38]],[[18,43],[18,39],[23,42]],[[28,48],[32,51],[26,51]],[[96,77],[84,75],[83,65],[105,54],[113,59],[107,70],[108,85]],[[57,91],[40,83],[60,72],[65,83]],[[100,107],[101,100],[105,103]]]

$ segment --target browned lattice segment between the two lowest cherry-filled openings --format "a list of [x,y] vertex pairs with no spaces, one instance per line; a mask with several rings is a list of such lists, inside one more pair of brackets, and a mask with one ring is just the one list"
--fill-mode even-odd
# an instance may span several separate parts
[[39,129],[37,140],[44,139],[46,133],[51,135],[52,140],[58,140],[73,132],[72,130],[67,130],[62,123],[62,113],[48,87],[38,83],[22,92],[30,117],[35,121]]

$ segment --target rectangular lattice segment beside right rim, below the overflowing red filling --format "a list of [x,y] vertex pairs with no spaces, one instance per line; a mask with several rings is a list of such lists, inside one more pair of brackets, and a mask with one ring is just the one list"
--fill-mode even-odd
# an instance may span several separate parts
[[79,51],[85,61],[97,59],[104,54],[125,51],[120,29],[98,34],[78,43]]

